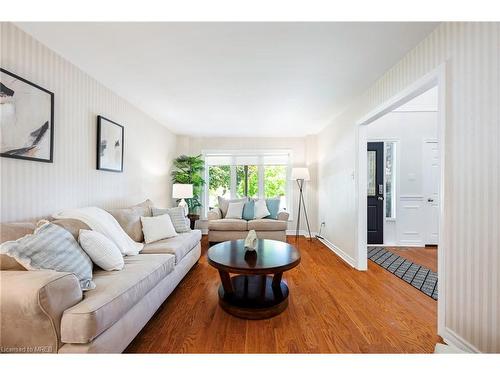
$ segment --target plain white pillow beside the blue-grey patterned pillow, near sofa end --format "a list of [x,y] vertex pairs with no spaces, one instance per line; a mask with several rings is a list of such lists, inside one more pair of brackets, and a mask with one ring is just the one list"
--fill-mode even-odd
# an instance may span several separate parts
[[120,249],[103,234],[93,230],[80,229],[78,242],[92,259],[92,262],[103,270],[119,271],[123,269],[123,255]]

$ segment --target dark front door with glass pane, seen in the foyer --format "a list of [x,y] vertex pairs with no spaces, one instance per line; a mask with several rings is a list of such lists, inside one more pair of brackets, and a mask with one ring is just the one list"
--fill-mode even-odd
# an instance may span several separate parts
[[384,142],[368,142],[368,243],[384,243]]

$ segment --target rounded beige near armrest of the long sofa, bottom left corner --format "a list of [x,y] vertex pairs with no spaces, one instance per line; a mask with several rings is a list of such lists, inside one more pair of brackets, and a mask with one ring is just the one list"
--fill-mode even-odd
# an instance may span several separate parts
[[72,273],[0,271],[0,348],[4,352],[57,353],[63,312],[82,300]]

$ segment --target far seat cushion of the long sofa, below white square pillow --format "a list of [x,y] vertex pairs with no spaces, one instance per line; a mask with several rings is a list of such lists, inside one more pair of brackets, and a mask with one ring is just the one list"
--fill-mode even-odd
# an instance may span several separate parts
[[201,241],[201,230],[179,233],[177,236],[144,245],[142,254],[173,254],[179,263]]

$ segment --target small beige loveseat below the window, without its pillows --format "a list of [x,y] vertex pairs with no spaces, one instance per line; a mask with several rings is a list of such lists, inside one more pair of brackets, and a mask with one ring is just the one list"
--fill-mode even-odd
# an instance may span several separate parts
[[210,244],[239,240],[247,236],[249,230],[255,230],[257,237],[286,242],[288,212],[278,213],[278,219],[225,219],[220,208],[208,212],[208,241]]

